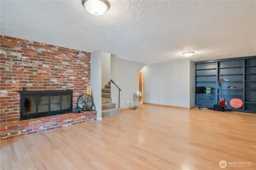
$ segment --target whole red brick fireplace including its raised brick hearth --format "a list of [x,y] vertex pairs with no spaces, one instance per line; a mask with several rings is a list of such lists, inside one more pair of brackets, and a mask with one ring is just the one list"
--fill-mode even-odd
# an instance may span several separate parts
[[[75,107],[76,100],[90,84],[90,53],[7,36],[1,36],[0,42],[1,139],[10,139],[96,119],[95,111],[78,114],[63,112],[64,114],[32,117],[34,119],[31,117],[27,120],[24,120],[24,117],[20,119],[21,92],[52,91],[53,93],[56,90],[72,90],[71,107],[66,108],[67,103],[65,103],[63,108]],[[40,106],[33,103],[31,109],[37,113],[38,110],[35,109],[38,107],[46,112],[59,110],[62,108],[60,104],[62,98],[69,99],[67,94],[65,95],[41,98]],[[50,101],[50,98],[52,109],[47,110],[49,105],[46,101]],[[66,102],[66,100],[63,101]],[[30,104],[32,105],[32,102]]]

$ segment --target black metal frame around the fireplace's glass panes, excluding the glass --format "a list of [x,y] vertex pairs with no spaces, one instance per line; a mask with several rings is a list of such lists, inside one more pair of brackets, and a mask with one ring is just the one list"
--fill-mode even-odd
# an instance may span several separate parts
[[[55,95],[70,95],[70,108],[50,111],[50,97],[49,97],[49,111],[38,112],[38,99],[39,96],[55,96]],[[36,113],[24,114],[24,97],[25,96],[36,96]],[[60,97],[60,108],[62,108],[62,102]],[[60,115],[70,113],[73,110],[73,90],[43,90],[43,91],[26,91],[20,92],[20,120],[34,119],[39,117],[47,117],[52,115]]]

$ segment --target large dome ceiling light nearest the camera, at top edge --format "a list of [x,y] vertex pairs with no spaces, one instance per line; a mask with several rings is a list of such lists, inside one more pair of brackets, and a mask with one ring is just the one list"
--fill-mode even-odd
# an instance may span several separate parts
[[82,0],[84,8],[93,15],[102,15],[106,12],[110,4],[107,0]]

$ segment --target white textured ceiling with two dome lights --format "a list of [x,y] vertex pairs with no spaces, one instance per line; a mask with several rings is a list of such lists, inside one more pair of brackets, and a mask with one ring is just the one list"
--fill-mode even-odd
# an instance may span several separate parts
[[142,63],[256,55],[256,1],[114,0],[102,16],[81,1],[1,1],[1,35]]

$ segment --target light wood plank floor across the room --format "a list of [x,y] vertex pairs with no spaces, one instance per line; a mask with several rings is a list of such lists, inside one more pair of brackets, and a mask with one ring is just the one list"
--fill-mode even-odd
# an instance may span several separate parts
[[1,170],[256,170],[256,115],[144,105],[0,144]]

